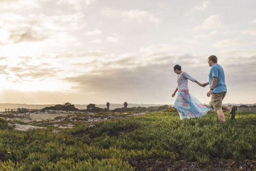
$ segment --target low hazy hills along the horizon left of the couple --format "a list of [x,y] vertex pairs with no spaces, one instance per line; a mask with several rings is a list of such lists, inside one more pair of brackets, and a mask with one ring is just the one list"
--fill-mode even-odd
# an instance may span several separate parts
[[[5,108],[16,109],[18,107],[30,108],[30,109],[42,109],[44,107],[55,106],[56,104],[19,104],[19,103],[0,103],[0,111],[4,111]],[[88,104],[75,104],[75,107],[78,109],[86,109]],[[127,107],[150,107],[150,106],[162,106],[163,104],[129,104]],[[95,104],[96,107],[105,108],[106,104]],[[110,104],[109,109],[121,108],[124,107],[124,104]]]

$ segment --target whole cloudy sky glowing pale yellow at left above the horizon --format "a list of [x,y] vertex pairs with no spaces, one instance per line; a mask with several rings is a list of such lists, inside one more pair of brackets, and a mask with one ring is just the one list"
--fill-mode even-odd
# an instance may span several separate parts
[[[256,1],[0,0],[0,103],[173,104],[173,66],[256,103]],[[210,101],[209,87],[189,82]]]

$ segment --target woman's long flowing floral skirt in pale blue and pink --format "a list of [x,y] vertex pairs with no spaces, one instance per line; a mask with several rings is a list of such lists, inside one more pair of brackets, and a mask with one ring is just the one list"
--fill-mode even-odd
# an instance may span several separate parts
[[180,119],[202,117],[210,108],[203,105],[196,97],[189,94],[188,91],[179,91],[175,100],[174,107],[180,115]]

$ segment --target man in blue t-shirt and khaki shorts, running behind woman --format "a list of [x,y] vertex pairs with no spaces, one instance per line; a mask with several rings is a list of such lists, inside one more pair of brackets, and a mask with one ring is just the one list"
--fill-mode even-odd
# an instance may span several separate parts
[[210,84],[210,90],[206,94],[208,97],[211,96],[210,108],[217,112],[218,118],[224,123],[225,115],[222,109],[229,111],[231,119],[234,119],[235,107],[222,105],[222,101],[227,93],[227,87],[225,84],[224,70],[217,64],[217,57],[214,55],[209,56],[208,64],[212,67],[209,74],[209,82],[203,83],[202,86],[205,87]]

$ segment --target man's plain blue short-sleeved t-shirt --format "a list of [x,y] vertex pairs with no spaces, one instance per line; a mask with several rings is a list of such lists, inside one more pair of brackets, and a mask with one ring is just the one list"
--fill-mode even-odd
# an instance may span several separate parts
[[218,64],[213,65],[211,70],[210,70],[210,74],[209,74],[210,88],[212,86],[212,80],[213,80],[214,77],[217,77],[218,81],[217,81],[217,84],[216,84],[215,88],[213,89],[213,93],[227,92],[227,87],[226,87],[226,84],[225,84],[224,70]]

